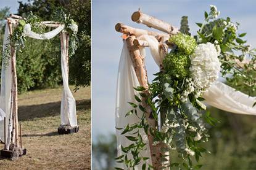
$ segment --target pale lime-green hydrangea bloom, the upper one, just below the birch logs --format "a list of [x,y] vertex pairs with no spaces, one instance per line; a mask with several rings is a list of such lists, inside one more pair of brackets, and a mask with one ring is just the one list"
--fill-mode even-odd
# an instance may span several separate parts
[[175,36],[171,36],[169,42],[176,44],[180,52],[184,52],[186,55],[191,55],[191,53],[196,48],[196,40],[186,34],[178,33]]

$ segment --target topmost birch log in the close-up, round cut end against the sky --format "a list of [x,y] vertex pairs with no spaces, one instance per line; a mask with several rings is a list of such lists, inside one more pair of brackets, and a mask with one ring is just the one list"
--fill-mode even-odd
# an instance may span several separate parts
[[150,28],[152,27],[158,29],[170,35],[175,35],[179,33],[179,29],[175,26],[172,26],[169,23],[159,20],[150,15],[143,14],[141,11],[134,12],[133,15],[131,15],[131,20],[136,23],[142,23]]

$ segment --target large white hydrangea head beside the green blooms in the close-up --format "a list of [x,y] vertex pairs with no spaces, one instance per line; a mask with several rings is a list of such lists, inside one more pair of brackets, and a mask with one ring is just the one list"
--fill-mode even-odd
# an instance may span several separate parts
[[218,60],[215,46],[210,42],[197,45],[191,55],[189,69],[194,81],[194,87],[201,89],[201,91],[196,91],[201,94],[207,91],[212,83],[218,79],[218,73],[220,72],[220,61]]

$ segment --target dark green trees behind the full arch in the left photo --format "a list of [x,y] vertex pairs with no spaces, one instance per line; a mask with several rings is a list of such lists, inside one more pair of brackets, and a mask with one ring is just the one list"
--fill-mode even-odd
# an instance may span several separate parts
[[[60,7],[78,23],[78,48],[70,58],[70,83],[76,90],[91,82],[91,1],[81,0],[28,0],[19,2],[18,15],[28,16],[30,12],[41,20],[49,21]],[[1,10],[2,20],[9,14],[8,8]],[[4,34],[1,22],[1,45]],[[45,31],[49,31],[46,28]],[[1,58],[0,58],[1,59]],[[48,41],[27,38],[26,47],[17,52],[17,77],[19,92],[35,88],[56,87],[62,83],[60,70],[60,40],[56,36]]]

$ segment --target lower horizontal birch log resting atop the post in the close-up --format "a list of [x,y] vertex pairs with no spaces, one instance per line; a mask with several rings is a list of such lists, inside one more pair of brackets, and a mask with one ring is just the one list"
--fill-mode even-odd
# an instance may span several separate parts
[[138,28],[133,28],[131,26],[127,26],[124,25],[123,23],[117,23],[117,25],[115,25],[115,30],[123,33],[123,34],[129,34],[129,35],[134,35],[136,37],[138,36],[142,36],[142,35],[149,35],[149,36],[165,36],[165,37],[169,37],[168,34],[164,34],[164,33],[157,33],[157,32],[153,32],[153,31],[147,31],[145,29],[138,29]]

